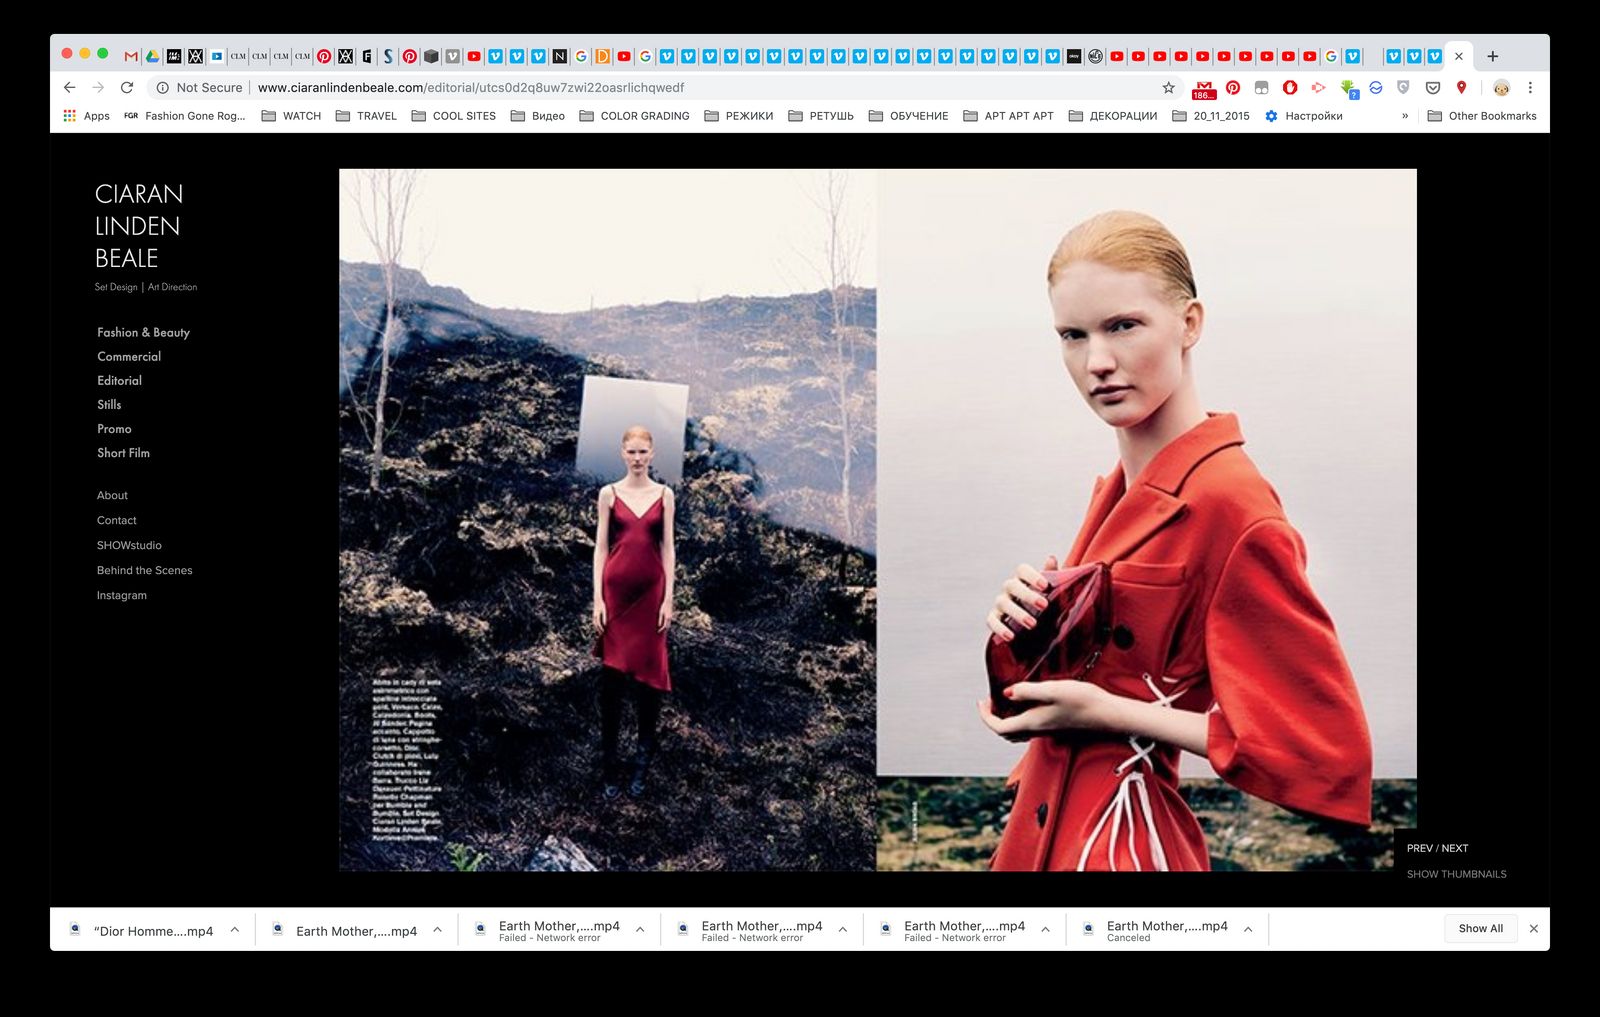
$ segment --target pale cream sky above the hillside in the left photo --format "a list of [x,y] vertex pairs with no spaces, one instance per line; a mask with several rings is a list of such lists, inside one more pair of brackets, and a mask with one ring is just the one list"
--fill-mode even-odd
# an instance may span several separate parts
[[[642,144],[648,144],[642,139]],[[490,307],[587,310],[822,289],[813,170],[426,170],[403,262]],[[373,261],[341,173],[339,257]],[[877,285],[875,174],[850,173]],[[810,259],[813,264],[808,264]],[[816,267],[814,267],[816,265]]]

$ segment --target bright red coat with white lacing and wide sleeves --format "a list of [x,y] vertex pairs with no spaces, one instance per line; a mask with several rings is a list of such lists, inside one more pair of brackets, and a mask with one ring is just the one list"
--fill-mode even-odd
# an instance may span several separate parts
[[[1245,792],[1371,822],[1371,737],[1306,545],[1245,456],[1238,417],[1206,414],[1123,494],[1094,485],[1066,564],[1109,561],[1114,636],[1090,681],[1210,715],[1206,756]],[[1206,870],[1174,745],[1106,732],[1032,739],[995,870]],[[1115,843],[1115,863],[1112,844]]]

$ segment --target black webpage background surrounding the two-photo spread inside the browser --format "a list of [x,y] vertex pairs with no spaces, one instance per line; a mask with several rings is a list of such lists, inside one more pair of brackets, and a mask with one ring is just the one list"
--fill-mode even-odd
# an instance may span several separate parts
[[[338,168],[1418,168],[1419,828],[1494,881],[1392,873],[349,873],[338,863]],[[50,139],[50,881],[58,907],[1549,905],[1547,134],[211,136]],[[182,182],[158,273],[93,294],[99,182]],[[1253,209],[1238,209],[1248,229]],[[530,243],[558,243],[531,237]],[[1323,243],[1306,237],[1304,245]],[[627,238],[618,238],[626,249]],[[142,245],[141,245],[142,246]],[[1349,259],[1394,259],[1350,249]],[[1395,261],[1395,272],[1411,265]],[[115,313],[123,307],[123,313]],[[154,310],[152,310],[154,309]],[[96,325],[192,328],[142,369]],[[99,373],[142,389],[98,390]],[[1360,379],[1352,379],[1358,385]],[[139,464],[99,462],[123,398]],[[126,440],[107,445],[126,445]],[[118,478],[126,477],[126,483]],[[134,502],[94,501],[126,488]],[[155,521],[98,528],[106,507]],[[99,537],[192,577],[96,579]],[[98,603],[146,588],[147,603]],[[1440,859],[1435,855],[1430,863]]]

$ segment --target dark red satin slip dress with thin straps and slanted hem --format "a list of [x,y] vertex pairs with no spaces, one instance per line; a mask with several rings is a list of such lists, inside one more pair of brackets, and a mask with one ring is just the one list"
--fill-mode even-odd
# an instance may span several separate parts
[[661,601],[667,595],[667,571],[661,561],[666,493],[662,488],[645,515],[635,515],[622,496],[611,491],[611,547],[600,574],[606,622],[595,656],[606,667],[670,692],[667,633],[658,632]]

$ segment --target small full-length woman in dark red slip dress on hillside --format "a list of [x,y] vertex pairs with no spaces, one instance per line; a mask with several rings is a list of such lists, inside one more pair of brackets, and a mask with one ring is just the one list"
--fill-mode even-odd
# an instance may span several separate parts
[[600,489],[595,531],[594,624],[600,638],[600,758],[606,798],[622,793],[618,732],[622,697],[634,689],[638,744],[627,792],[645,793],[645,772],[656,753],[661,694],[667,675],[667,625],[672,624],[672,488],[650,480],[656,441],[643,427],[622,435],[627,477]]

